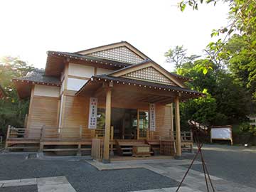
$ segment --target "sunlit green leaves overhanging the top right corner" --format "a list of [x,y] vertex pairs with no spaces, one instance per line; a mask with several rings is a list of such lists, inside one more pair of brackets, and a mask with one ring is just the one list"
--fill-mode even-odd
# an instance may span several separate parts
[[[230,24],[213,30],[211,36],[225,33],[225,38],[208,44],[209,58],[228,64],[234,78],[244,84],[256,100],[256,1],[223,1],[230,6]],[[183,11],[188,5],[198,9],[198,4],[203,2],[216,4],[218,0],[183,0],[180,8]]]

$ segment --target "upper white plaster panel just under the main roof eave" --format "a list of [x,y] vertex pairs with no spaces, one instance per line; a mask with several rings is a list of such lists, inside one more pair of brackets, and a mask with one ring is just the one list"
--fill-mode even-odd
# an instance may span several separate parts
[[92,66],[78,65],[69,63],[68,75],[74,75],[82,78],[90,78],[94,75],[95,68]]

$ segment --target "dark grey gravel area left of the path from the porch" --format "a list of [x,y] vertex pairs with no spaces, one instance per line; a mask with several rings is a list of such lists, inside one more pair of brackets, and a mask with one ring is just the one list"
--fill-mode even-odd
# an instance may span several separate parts
[[147,169],[98,171],[85,161],[26,159],[25,154],[0,154],[0,167],[0,180],[65,176],[78,192],[138,191],[178,185]]

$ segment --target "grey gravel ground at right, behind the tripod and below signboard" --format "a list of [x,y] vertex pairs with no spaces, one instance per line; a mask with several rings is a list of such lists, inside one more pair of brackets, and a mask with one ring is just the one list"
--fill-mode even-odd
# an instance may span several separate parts
[[[193,159],[194,154],[184,154],[183,156]],[[203,156],[211,175],[245,186],[256,187],[255,148],[204,145]],[[202,166],[199,164],[193,165],[192,169],[203,172]]]

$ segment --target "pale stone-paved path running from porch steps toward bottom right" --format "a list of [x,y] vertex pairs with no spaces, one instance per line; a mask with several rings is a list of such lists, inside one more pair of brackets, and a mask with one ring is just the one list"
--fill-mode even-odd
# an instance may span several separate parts
[[[133,168],[144,168],[154,171],[157,174],[166,176],[168,178],[174,179],[180,182],[186,173],[186,165],[191,163],[190,159],[176,160],[176,159],[163,159],[163,160],[139,160],[139,161],[114,161],[112,164],[102,164],[97,161],[87,161],[92,166],[95,166],[99,170],[111,170],[111,169],[133,169]],[[195,161],[196,165],[201,164],[200,161]],[[223,178],[216,176],[211,176],[213,181],[213,186],[215,191],[225,191],[225,192],[252,192],[256,191],[256,188],[249,186],[243,186],[239,183],[233,183],[226,181]],[[206,181],[204,174],[200,171],[195,171],[191,169],[188,176],[186,176],[183,182],[184,186],[181,188],[182,191],[206,191]],[[147,190],[148,192],[166,192],[166,191],[176,191],[176,188],[159,188],[154,190]],[[137,191],[142,192],[142,191]],[[143,191],[146,192],[146,191]]]

